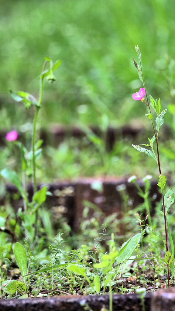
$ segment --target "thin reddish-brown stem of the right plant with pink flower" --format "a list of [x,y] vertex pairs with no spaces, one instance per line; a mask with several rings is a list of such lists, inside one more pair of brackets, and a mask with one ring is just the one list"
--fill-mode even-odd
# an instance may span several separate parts
[[[144,90],[145,90],[145,94],[146,94],[146,100],[147,100],[146,104],[148,105],[149,112],[151,114],[151,109],[150,109],[150,106],[149,106],[149,100],[148,100],[148,95],[147,95],[147,92],[146,92],[146,87],[145,87],[145,82],[144,82],[144,75],[143,75],[142,64],[141,64],[140,58],[139,58],[139,62],[140,62],[140,69],[141,69],[141,74],[142,74],[142,79],[143,79]],[[158,115],[158,117],[159,117],[159,115]],[[156,140],[158,169],[159,169],[159,174],[161,174],[160,158],[159,158],[159,150],[158,150],[158,133],[156,135],[153,120],[151,120],[151,122],[152,122],[153,131],[154,131],[154,135],[155,135],[155,140]],[[166,215],[165,215],[165,202],[164,202],[163,190],[162,190],[162,201],[163,201],[163,214],[164,214],[164,223],[165,223],[166,251],[168,252],[167,223],[166,223]],[[168,287],[169,287],[169,265],[168,265]]]

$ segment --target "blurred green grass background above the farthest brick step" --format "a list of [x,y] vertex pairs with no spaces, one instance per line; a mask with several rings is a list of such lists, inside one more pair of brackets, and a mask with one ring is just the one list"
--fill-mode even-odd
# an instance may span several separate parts
[[45,83],[39,123],[98,123],[97,101],[112,111],[111,123],[120,126],[145,114],[132,100],[141,86],[132,58],[135,44],[142,48],[148,93],[161,97],[166,108],[170,95],[166,57],[174,57],[175,3],[173,0],[50,0],[2,1],[0,12],[1,128],[32,121],[8,95],[8,88],[37,96],[43,58],[62,65],[53,86]]

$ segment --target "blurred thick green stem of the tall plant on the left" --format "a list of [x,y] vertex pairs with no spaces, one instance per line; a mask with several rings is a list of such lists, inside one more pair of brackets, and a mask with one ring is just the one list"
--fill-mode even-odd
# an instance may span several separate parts
[[[45,66],[47,64],[47,61],[44,62],[42,72],[45,71]],[[41,72],[41,73],[42,73]],[[34,193],[37,191],[37,185],[36,185],[36,164],[35,164],[35,132],[36,132],[36,120],[38,117],[38,113],[40,110],[40,105],[42,101],[42,96],[43,96],[43,77],[40,79],[40,95],[39,95],[39,100],[38,100],[38,105],[36,106],[36,112],[35,112],[35,117],[33,120],[33,136],[32,136],[32,151],[33,151],[33,190]],[[33,241],[35,241],[36,234],[37,234],[37,222],[38,222],[38,210],[35,211],[35,232],[34,232],[34,237]]]

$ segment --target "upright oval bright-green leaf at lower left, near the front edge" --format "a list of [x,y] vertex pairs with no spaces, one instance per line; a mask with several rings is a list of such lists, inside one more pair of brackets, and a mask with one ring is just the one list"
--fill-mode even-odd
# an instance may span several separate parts
[[21,275],[25,276],[27,272],[27,254],[24,246],[18,242],[15,243],[13,253],[15,255],[16,262],[21,271]]

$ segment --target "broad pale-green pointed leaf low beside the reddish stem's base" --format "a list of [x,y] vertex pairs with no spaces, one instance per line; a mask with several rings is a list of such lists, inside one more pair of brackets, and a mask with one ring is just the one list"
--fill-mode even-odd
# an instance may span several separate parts
[[[129,239],[127,242],[123,243],[122,248],[124,248],[124,251],[121,252],[121,250],[119,251],[119,253],[117,254],[117,256],[119,257],[119,261],[123,262],[125,259],[129,259],[130,256],[132,255],[132,253],[134,252],[137,244],[135,239],[137,240],[137,243],[139,243],[141,238],[141,233],[136,234],[135,236],[133,236],[131,239]],[[126,246],[126,247],[125,247]]]

